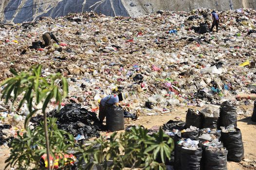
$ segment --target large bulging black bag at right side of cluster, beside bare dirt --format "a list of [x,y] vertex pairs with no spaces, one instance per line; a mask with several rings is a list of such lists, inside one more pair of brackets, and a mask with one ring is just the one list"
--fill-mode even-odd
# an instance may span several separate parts
[[244,148],[240,129],[236,132],[221,132],[221,141],[228,150],[228,161],[240,162],[243,159]]

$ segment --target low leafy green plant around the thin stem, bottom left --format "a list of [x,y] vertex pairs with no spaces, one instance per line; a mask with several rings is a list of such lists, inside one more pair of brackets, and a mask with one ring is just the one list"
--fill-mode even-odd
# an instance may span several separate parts
[[[51,155],[63,158],[68,149],[74,147],[74,137],[64,130],[59,130],[55,118],[48,118],[47,122]],[[40,158],[46,153],[44,133],[43,122],[33,130],[27,128],[23,135],[18,132],[18,138],[11,143],[11,155],[6,160],[5,169],[17,164],[19,169],[27,170],[33,167],[38,170]],[[65,160],[59,159],[58,165],[63,168]]]

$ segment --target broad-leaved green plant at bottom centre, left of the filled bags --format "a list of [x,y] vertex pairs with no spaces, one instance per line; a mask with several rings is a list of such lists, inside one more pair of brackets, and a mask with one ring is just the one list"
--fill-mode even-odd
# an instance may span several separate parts
[[78,166],[84,170],[91,170],[95,165],[104,170],[121,170],[124,167],[165,170],[165,162],[170,159],[173,148],[173,139],[162,129],[149,136],[146,129],[132,127],[120,135],[113,133],[110,140],[101,136],[89,146],[84,146]]

